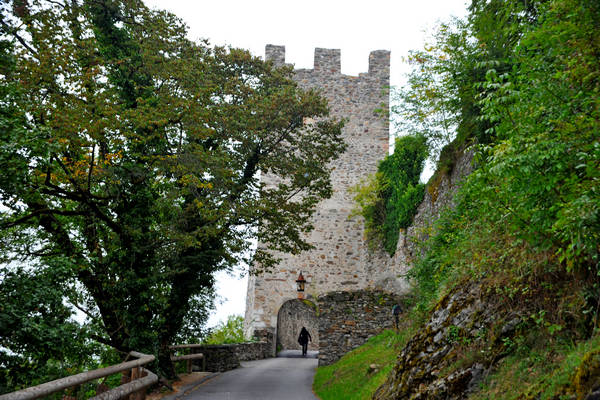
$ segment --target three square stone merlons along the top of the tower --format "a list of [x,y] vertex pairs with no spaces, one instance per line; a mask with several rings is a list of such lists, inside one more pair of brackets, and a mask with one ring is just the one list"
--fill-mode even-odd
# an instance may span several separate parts
[[[265,47],[265,60],[277,66],[285,65],[285,46],[268,44]],[[340,49],[315,48],[314,71],[319,73],[341,74],[342,52]],[[372,75],[383,79],[390,76],[390,52],[375,50],[369,54],[369,72],[360,76]]]

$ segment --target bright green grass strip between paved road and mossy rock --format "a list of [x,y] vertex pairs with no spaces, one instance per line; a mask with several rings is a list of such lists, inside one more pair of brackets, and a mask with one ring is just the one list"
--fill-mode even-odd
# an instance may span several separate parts
[[[412,332],[406,329],[398,334],[386,330],[347,353],[335,364],[319,367],[313,383],[315,393],[322,400],[371,398],[387,378],[398,353],[411,335]],[[378,365],[377,372],[369,373],[371,364]]]

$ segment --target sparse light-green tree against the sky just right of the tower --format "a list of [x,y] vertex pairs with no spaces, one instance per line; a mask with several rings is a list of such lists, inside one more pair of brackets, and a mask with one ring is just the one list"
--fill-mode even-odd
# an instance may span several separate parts
[[394,91],[396,130],[424,136],[434,156],[455,138],[458,147],[470,141],[489,142],[489,124],[478,119],[474,88],[485,70],[478,65],[480,52],[468,23],[442,24],[432,41],[408,56],[413,68],[407,84]]

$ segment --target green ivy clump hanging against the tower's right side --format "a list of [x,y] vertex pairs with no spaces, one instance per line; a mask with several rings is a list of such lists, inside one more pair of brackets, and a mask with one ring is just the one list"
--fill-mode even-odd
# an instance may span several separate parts
[[357,203],[353,215],[364,218],[371,248],[382,246],[390,255],[396,251],[400,229],[411,224],[423,200],[419,177],[427,154],[423,136],[399,137],[394,153],[379,163],[377,174],[353,189]]

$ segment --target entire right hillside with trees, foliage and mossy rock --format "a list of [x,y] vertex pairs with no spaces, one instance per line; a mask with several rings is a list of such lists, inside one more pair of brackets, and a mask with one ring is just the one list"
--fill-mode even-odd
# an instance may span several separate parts
[[395,255],[416,333],[375,399],[600,398],[598,26],[598,2],[473,1],[411,55],[407,129],[457,136]]

